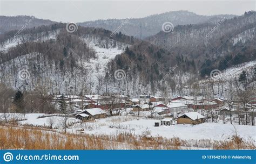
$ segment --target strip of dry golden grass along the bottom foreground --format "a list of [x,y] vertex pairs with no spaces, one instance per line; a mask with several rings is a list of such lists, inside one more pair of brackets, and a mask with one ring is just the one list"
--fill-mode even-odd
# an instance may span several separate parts
[[0,125],[0,149],[255,149],[241,138],[228,141],[181,140],[132,134],[64,134],[40,127]]

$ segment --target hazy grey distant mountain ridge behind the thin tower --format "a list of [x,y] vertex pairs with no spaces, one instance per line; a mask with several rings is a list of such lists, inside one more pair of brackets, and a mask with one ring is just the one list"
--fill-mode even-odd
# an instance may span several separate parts
[[[233,17],[235,17],[235,15],[202,16],[189,11],[170,11],[144,18],[95,20],[78,24],[86,27],[101,27],[105,28],[106,30],[116,32],[120,31],[126,35],[132,35],[136,38],[145,38],[161,31],[161,27],[165,22],[171,22],[174,26],[176,26],[186,24],[215,23],[223,18],[230,19]],[[140,31],[140,26],[142,26],[142,31]]]

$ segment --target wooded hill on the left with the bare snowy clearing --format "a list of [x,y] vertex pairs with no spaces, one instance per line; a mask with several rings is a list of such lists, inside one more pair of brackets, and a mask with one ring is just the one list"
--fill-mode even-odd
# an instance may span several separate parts
[[[101,32],[111,33],[85,27],[77,33],[67,33],[60,27],[8,37],[0,47],[1,82],[19,90],[44,86],[51,94],[139,94],[143,88],[140,77],[129,82],[116,81],[107,67],[117,54],[131,46],[127,41],[130,37],[114,38]],[[121,84],[131,89],[124,92]]]

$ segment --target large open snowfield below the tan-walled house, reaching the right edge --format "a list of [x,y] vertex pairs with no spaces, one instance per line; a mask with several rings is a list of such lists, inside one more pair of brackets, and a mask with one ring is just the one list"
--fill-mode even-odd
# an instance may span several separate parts
[[[118,133],[132,133],[142,135],[143,132],[150,131],[152,137],[161,136],[166,138],[179,137],[180,139],[212,140],[230,139],[235,134],[236,129],[240,137],[250,140],[253,139],[256,142],[256,126],[204,123],[199,125],[178,124],[155,127],[154,122],[159,122],[159,120],[115,116],[98,119],[93,123],[83,123],[82,125],[77,125],[77,128],[83,128],[89,125],[89,127],[95,127],[95,129],[89,131],[84,129],[84,132],[89,134],[114,135]],[[74,131],[74,129],[70,131]]]

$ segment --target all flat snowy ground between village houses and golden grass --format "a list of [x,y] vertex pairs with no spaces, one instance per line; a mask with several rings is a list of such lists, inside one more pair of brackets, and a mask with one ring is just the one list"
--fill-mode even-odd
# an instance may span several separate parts
[[[22,124],[32,124],[32,125],[46,125],[48,126],[49,117],[38,118],[43,114],[26,114],[24,117],[27,120],[22,120],[18,122]],[[53,117],[55,123],[53,127],[61,127],[61,117]],[[211,139],[211,140],[226,140],[230,139],[235,132],[243,139],[253,141],[256,143],[256,126],[249,125],[231,125],[231,124],[220,124],[220,123],[203,123],[199,125],[188,125],[188,124],[178,124],[171,126],[159,126],[155,127],[154,122],[159,122],[157,119],[144,119],[141,117],[133,116],[113,116],[106,117],[102,119],[92,120],[86,123],[78,123],[79,120],[75,118],[70,118],[69,123],[73,122],[75,124],[70,124],[68,132],[70,133],[80,133],[78,131],[84,130],[83,133],[86,134],[107,134],[107,135],[117,135],[120,133],[132,134],[132,135],[144,135],[152,137],[166,137],[173,138],[178,137],[180,139]],[[69,124],[68,123],[68,124]]]

